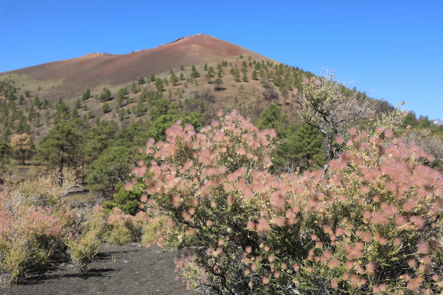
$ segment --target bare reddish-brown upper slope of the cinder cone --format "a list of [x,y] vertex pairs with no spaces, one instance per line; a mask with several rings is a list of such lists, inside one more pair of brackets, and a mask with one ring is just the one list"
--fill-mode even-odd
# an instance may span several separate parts
[[[119,85],[136,80],[140,76],[146,77],[178,68],[182,64],[187,66],[210,63],[240,54],[266,59],[232,43],[198,34],[130,54],[89,55],[36,65],[10,73],[25,73],[37,80],[64,78],[65,83],[57,89],[57,95],[61,92],[72,95],[84,91],[87,87],[94,88],[104,83]],[[51,94],[56,95],[56,93]]]

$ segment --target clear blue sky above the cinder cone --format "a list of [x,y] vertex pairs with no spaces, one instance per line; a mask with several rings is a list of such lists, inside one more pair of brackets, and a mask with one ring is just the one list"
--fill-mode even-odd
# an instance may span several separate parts
[[0,72],[206,33],[443,118],[443,0],[0,0]]

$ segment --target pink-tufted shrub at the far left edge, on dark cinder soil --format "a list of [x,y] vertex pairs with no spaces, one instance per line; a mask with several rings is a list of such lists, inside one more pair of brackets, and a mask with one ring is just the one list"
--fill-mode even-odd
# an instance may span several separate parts
[[[62,205],[63,190],[51,176],[15,181],[0,188],[0,285],[17,283],[26,271],[62,256],[64,238],[75,231]],[[58,198],[56,195],[60,194]]]

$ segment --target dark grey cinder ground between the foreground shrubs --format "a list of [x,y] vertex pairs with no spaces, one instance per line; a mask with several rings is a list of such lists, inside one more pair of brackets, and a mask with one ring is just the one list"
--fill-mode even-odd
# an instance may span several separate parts
[[101,244],[89,272],[81,274],[69,263],[34,273],[16,287],[0,288],[1,295],[197,295],[186,290],[173,272],[176,252],[158,252],[140,244]]

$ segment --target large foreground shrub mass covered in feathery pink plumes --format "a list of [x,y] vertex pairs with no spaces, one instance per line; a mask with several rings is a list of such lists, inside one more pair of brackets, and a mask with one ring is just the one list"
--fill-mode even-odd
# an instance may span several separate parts
[[236,111],[218,115],[199,133],[178,122],[166,141],[149,140],[151,160],[133,171],[146,185],[142,207],[171,220],[158,233],[185,250],[176,271],[189,287],[206,294],[442,292],[443,178],[419,162],[423,150],[393,138],[395,120],[349,130],[326,175],[273,175],[275,132],[258,131]]

